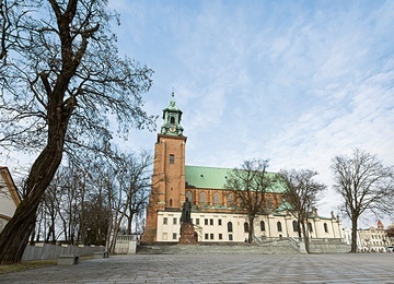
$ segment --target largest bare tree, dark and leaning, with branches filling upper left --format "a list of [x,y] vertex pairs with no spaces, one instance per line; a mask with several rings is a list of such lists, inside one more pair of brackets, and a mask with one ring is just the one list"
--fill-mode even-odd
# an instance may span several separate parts
[[65,146],[104,152],[112,137],[108,114],[121,133],[130,127],[151,129],[155,120],[141,109],[152,71],[118,57],[109,29],[118,19],[106,1],[26,2],[7,19],[18,29],[2,37],[10,43],[14,32],[8,62],[1,66],[0,146],[39,154],[26,179],[26,196],[0,234],[0,263],[21,261]]

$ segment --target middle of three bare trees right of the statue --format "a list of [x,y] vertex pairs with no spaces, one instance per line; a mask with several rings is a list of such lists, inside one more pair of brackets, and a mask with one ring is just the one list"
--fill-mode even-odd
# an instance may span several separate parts
[[316,205],[320,193],[327,188],[325,185],[314,180],[316,175],[317,171],[310,169],[282,169],[279,176],[287,189],[282,196],[282,204],[297,218],[299,237],[301,237],[302,233],[308,252],[310,252],[310,238],[306,227],[308,218]]

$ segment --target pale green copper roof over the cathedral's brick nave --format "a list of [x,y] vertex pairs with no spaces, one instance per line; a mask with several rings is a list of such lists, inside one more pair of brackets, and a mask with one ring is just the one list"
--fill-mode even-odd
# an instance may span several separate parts
[[[227,176],[233,170],[232,168],[220,167],[202,167],[202,166],[186,166],[185,176],[188,187],[209,188],[209,189],[224,189]],[[276,175],[275,173],[268,173]],[[286,189],[279,185],[274,184],[267,192],[283,192]]]

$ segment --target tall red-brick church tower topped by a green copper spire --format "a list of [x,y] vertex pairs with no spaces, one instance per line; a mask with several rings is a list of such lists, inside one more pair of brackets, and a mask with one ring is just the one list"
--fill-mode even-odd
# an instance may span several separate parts
[[186,137],[181,126],[182,111],[175,106],[174,93],[170,106],[163,109],[164,123],[154,145],[152,189],[147,209],[143,242],[157,241],[158,213],[181,212],[185,202]]

